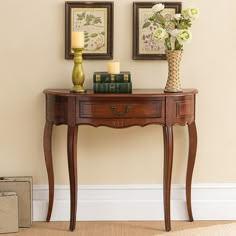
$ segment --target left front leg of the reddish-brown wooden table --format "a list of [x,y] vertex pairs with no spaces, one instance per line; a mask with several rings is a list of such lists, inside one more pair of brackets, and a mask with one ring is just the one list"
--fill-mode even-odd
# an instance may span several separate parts
[[70,230],[76,226],[77,211],[77,133],[78,126],[68,126],[67,155],[70,177]]

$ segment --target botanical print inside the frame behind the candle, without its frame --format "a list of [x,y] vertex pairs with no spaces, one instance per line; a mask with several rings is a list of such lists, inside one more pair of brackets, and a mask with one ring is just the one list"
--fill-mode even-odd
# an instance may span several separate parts
[[72,8],[71,31],[84,31],[85,53],[106,53],[107,9]]

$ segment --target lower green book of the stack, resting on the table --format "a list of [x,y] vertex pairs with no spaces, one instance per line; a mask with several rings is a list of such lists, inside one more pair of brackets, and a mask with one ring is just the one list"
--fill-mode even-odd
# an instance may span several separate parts
[[132,93],[132,83],[93,83],[94,93]]

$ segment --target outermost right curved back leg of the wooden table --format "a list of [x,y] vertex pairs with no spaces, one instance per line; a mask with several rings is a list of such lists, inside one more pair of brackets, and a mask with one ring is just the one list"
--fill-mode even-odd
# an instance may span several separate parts
[[189,221],[193,221],[192,206],[191,206],[191,184],[193,176],[193,168],[197,152],[197,129],[195,121],[188,124],[189,133],[189,153],[188,153],[188,167],[187,167],[187,177],[186,177],[186,200]]

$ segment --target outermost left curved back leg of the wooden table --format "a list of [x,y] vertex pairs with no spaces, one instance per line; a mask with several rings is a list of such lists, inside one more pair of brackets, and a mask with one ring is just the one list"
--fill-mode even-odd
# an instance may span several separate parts
[[53,199],[54,199],[54,173],[53,173],[53,161],[52,161],[52,128],[53,123],[46,121],[44,127],[43,136],[43,148],[44,157],[48,173],[48,184],[49,184],[49,203],[48,203],[48,214],[47,222],[51,219]]

